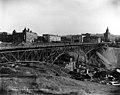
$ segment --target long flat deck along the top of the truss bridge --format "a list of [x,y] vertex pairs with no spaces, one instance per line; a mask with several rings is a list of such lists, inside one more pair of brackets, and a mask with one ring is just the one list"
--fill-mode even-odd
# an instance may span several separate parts
[[53,47],[69,47],[69,46],[92,46],[104,43],[77,43],[77,44],[69,44],[69,43],[51,43],[51,44],[36,44],[36,45],[20,45],[20,46],[1,46],[0,51],[12,51],[12,50],[27,50],[27,49],[39,49],[39,48],[53,48]]

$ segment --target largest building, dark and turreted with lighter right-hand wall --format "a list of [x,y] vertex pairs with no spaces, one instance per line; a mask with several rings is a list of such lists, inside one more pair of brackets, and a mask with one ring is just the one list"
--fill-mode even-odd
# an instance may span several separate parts
[[12,33],[13,43],[33,43],[37,39],[37,33],[30,31],[30,29],[24,29],[22,32]]

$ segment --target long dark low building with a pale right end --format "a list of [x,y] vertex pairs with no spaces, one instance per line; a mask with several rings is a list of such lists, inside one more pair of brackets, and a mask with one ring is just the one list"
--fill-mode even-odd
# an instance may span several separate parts
[[100,43],[101,38],[97,36],[86,36],[83,38],[84,43]]

